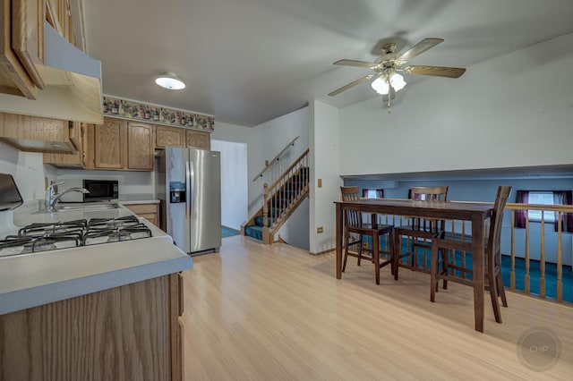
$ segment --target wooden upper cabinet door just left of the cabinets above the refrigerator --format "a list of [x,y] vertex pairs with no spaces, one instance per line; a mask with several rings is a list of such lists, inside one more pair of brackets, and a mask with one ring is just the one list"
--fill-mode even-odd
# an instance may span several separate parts
[[153,125],[129,123],[127,131],[129,169],[153,170]]

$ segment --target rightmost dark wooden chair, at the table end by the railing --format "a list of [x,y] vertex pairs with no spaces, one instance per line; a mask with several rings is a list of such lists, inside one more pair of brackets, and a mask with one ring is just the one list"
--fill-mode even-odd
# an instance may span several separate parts
[[[503,279],[501,277],[500,235],[501,223],[503,222],[503,209],[508,202],[510,191],[511,187],[508,185],[498,188],[495,203],[493,204],[490,231],[484,248],[484,273],[487,278],[486,288],[490,290],[493,314],[495,315],[495,321],[498,323],[501,323],[500,301],[498,298],[501,298],[503,307],[508,307],[508,301],[503,287]],[[454,251],[453,263],[449,260],[450,250]],[[433,239],[430,301],[435,301],[440,279],[443,280],[444,289],[447,289],[448,282],[456,282],[470,286],[474,285],[473,278],[467,277],[467,275],[474,274],[473,270],[456,264],[456,250],[471,252],[472,236],[447,232],[443,233],[441,237]],[[440,264],[441,270],[439,271]]]

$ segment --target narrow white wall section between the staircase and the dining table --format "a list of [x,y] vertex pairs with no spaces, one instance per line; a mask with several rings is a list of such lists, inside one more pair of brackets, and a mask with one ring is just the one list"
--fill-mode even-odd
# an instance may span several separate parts
[[[311,103],[310,155],[310,251],[321,253],[335,247],[336,215],[333,202],[339,199],[340,141],[338,134],[338,108],[318,100]],[[318,188],[318,179],[322,187]],[[316,233],[322,226],[323,233]]]

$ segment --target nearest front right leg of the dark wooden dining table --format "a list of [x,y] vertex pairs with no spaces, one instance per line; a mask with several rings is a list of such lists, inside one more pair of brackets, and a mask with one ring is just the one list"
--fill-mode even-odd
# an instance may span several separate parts
[[483,219],[472,219],[475,330],[483,332]]

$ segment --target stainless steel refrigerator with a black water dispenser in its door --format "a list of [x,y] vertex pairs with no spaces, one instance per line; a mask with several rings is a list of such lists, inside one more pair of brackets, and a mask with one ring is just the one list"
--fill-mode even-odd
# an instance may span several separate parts
[[158,156],[157,194],[164,228],[190,254],[221,247],[220,152],[165,148]]

